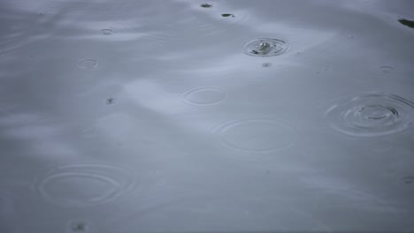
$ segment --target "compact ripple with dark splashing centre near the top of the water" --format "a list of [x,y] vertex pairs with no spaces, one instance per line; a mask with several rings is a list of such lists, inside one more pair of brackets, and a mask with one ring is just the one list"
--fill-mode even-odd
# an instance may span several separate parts
[[243,52],[249,56],[278,56],[289,49],[287,41],[272,38],[259,38],[243,45]]

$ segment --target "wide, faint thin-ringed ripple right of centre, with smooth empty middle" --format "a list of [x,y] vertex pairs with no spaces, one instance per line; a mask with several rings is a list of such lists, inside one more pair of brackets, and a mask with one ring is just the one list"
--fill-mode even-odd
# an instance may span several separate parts
[[243,118],[227,121],[212,129],[220,143],[242,152],[268,153],[292,146],[294,130],[277,119]]

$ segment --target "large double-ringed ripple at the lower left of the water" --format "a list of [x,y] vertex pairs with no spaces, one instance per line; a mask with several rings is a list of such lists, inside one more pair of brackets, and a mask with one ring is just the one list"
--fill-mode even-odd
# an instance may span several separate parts
[[125,169],[109,164],[58,166],[38,180],[36,190],[59,205],[88,207],[109,202],[133,188]]

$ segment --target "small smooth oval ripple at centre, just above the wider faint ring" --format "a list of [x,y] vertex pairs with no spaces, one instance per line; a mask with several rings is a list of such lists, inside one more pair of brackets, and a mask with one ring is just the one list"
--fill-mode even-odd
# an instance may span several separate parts
[[183,97],[192,105],[215,105],[226,99],[226,90],[219,86],[202,86],[185,92]]

